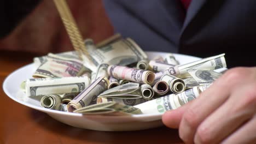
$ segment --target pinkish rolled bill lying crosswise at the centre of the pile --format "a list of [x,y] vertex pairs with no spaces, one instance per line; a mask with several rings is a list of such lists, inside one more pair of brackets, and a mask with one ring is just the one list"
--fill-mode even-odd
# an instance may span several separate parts
[[139,83],[147,83],[149,85],[152,85],[155,78],[155,75],[152,71],[133,69],[118,65],[109,65],[108,74],[117,79],[124,79]]

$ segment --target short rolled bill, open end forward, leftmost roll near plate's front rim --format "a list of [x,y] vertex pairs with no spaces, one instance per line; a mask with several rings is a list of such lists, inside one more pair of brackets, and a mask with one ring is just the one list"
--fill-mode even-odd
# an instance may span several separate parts
[[58,94],[44,95],[40,100],[41,106],[46,109],[55,109],[55,107],[61,104],[61,97]]

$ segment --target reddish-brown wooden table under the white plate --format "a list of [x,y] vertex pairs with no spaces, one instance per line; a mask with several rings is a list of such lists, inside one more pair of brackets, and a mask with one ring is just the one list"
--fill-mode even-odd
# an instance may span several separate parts
[[160,127],[122,132],[80,129],[16,103],[3,92],[2,83],[12,71],[32,63],[35,56],[0,51],[0,143],[182,143],[176,129]]

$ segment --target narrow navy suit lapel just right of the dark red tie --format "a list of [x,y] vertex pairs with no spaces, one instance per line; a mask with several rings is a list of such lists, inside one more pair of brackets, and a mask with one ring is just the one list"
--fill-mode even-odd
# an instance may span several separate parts
[[194,19],[196,14],[199,12],[199,10],[202,8],[203,4],[205,4],[207,0],[192,0],[189,8],[187,10],[187,15],[185,17],[181,35],[184,32],[185,28],[188,27],[189,23]]

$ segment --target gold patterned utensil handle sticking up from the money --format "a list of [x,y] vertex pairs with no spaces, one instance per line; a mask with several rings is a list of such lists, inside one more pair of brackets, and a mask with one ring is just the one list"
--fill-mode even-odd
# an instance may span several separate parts
[[59,11],[61,20],[66,28],[74,50],[78,52],[79,58],[84,60],[82,55],[85,55],[89,61],[91,61],[91,56],[85,47],[82,34],[79,32],[78,26],[75,23],[74,17],[71,14],[71,10],[69,9],[66,0],[54,0],[54,3]]

